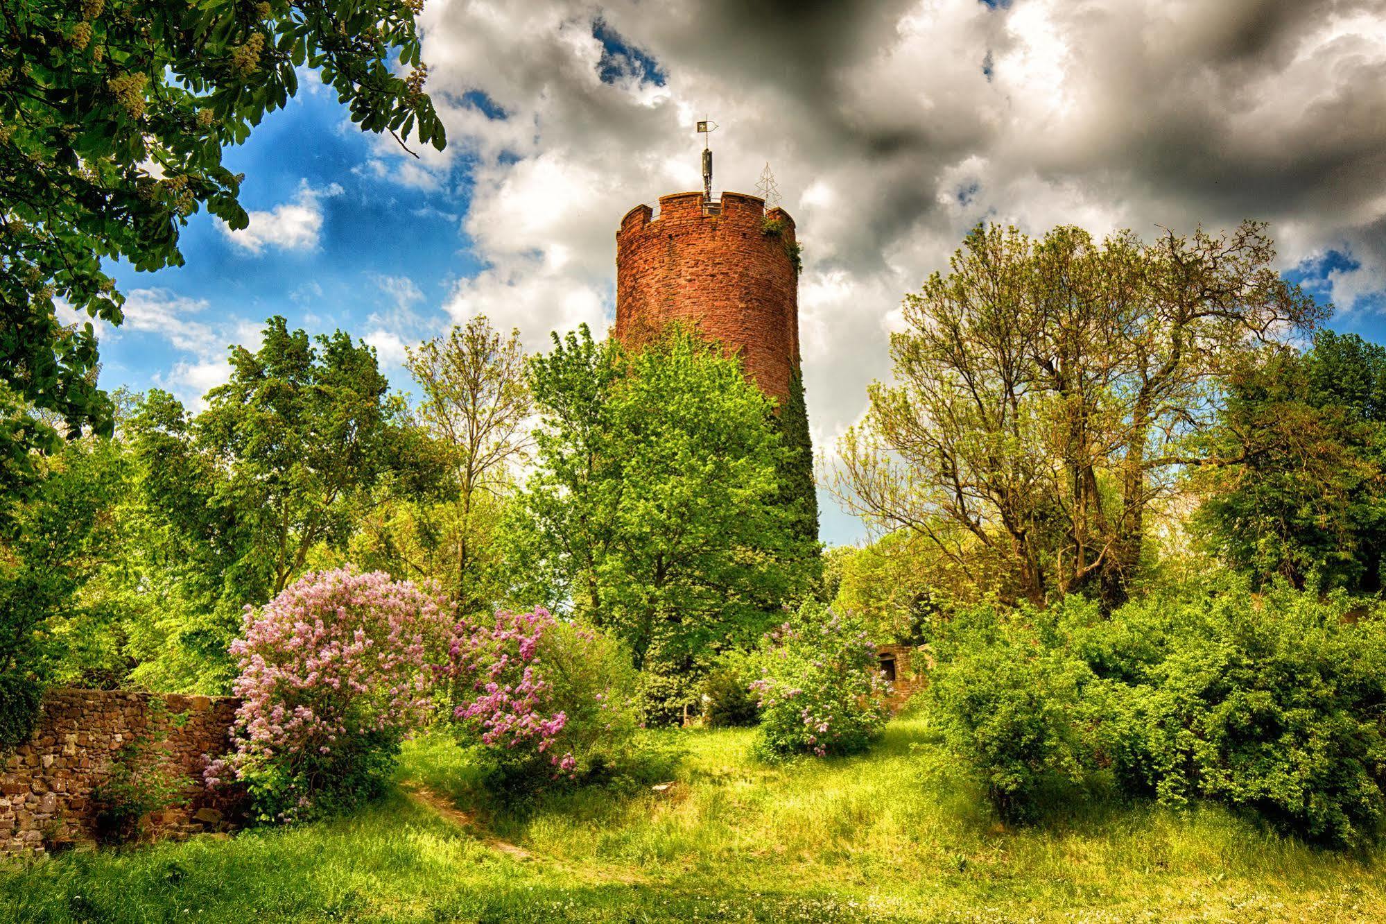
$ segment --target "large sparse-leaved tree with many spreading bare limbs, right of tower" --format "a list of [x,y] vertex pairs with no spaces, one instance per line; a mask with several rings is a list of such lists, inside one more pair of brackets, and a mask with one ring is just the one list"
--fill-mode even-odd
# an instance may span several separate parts
[[1254,222],[1152,244],[979,226],[905,298],[895,384],[870,387],[843,440],[839,495],[962,569],[967,534],[1016,597],[1120,602],[1152,505],[1202,461],[1188,441],[1216,419],[1218,377],[1326,314],[1274,255]]

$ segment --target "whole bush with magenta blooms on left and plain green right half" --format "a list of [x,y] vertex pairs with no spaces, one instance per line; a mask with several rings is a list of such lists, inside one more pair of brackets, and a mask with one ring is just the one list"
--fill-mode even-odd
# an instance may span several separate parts
[[502,610],[459,626],[452,651],[462,741],[491,760],[493,789],[640,776],[636,676],[611,637],[545,609]]

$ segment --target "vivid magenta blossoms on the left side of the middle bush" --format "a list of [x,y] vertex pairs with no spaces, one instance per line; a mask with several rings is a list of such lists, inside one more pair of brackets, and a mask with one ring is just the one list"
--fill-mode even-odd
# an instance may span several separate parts
[[534,748],[549,753],[559,774],[571,774],[571,751],[557,753],[554,744],[568,724],[567,713],[550,712],[552,685],[543,677],[541,642],[554,626],[549,610],[529,613],[500,610],[491,626],[457,627],[452,642],[455,676],[471,680],[471,694],[457,705],[457,719],[480,730],[492,748]]

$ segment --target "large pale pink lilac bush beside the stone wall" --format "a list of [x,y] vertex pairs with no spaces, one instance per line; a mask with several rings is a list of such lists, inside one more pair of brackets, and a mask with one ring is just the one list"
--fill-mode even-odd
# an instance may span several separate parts
[[305,574],[231,642],[244,702],[209,787],[241,781],[261,820],[290,821],[377,792],[399,742],[431,715],[452,606],[434,588],[351,567]]

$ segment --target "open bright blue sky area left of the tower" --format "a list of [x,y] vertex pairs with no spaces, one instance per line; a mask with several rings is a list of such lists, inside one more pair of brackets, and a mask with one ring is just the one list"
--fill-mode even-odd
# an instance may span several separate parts
[[[126,293],[155,290],[133,300],[133,320],[144,302],[179,298],[188,323],[205,325],[209,337],[220,334],[225,343],[179,348],[166,329],[128,325],[103,339],[103,383],[158,384],[187,400],[197,388],[175,377],[179,363],[225,355],[247,326],[283,315],[312,332],[341,327],[366,336],[373,315],[402,304],[410,309],[437,304],[455,279],[475,273],[478,262],[460,232],[468,204],[466,161],[459,160],[437,187],[420,189],[370,169],[377,144],[346,122],[344,107],[326,92],[302,93],[287,110],[266,117],[247,144],[226,153],[227,166],[245,173],[241,204],[273,214],[306,200],[309,211],[320,214],[320,226],[292,246],[262,244],[254,251],[233,243],[218,219],[200,214],[183,229],[183,266],[137,273],[116,265]],[[432,326],[438,323],[434,319]],[[398,368],[392,372],[396,384],[407,384]]]

